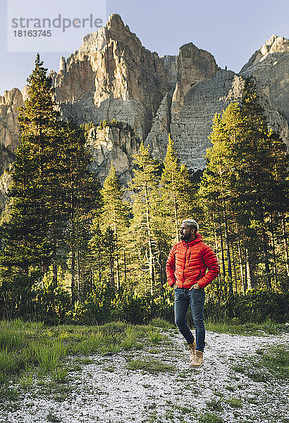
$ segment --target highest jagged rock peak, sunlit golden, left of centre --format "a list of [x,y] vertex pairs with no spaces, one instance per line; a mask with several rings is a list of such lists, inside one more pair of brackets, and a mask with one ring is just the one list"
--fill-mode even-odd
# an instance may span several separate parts
[[106,27],[87,35],[60,65],[51,77],[64,117],[78,123],[116,118],[147,137],[168,91],[168,75],[159,56],[142,47],[120,16],[111,15]]

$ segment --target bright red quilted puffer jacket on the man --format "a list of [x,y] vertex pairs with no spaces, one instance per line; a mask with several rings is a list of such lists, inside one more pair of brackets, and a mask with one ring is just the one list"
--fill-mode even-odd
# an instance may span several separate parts
[[203,243],[199,233],[190,243],[180,241],[174,245],[166,261],[168,285],[173,286],[176,282],[179,288],[190,288],[195,283],[204,288],[218,276],[219,271],[214,251]]

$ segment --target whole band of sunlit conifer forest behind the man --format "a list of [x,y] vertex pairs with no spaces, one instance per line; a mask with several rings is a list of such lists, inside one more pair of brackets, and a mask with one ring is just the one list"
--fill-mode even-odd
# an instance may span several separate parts
[[254,80],[216,114],[200,176],[180,164],[168,134],[164,161],[139,142],[132,180],[113,164],[92,171],[88,131],[118,121],[62,121],[37,55],[19,111],[20,139],[1,214],[1,317],[47,324],[173,321],[166,259],[183,219],[219,259],[205,317],[285,321],[288,314],[288,154],[268,128]]

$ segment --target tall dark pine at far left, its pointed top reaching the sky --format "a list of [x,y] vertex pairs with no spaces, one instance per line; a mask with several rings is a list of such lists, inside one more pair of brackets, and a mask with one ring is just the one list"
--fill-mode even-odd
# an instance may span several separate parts
[[[54,260],[55,238],[62,235],[63,215],[58,207],[62,196],[57,184],[59,168],[59,112],[52,101],[47,69],[39,54],[27,79],[28,98],[20,108],[20,140],[8,190],[11,210],[4,225],[4,262],[48,266]],[[61,236],[60,235],[60,236]]]

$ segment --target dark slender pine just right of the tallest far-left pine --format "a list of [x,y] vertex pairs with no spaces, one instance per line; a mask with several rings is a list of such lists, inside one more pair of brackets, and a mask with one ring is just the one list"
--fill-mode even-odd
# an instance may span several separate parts
[[[70,255],[71,299],[80,299],[81,292],[90,291],[82,275],[90,274],[90,226],[102,205],[100,185],[91,171],[92,154],[87,149],[85,131],[70,121],[62,125],[60,178],[66,212],[66,238]],[[65,247],[63,247],[65,250]],[[66,248],[67,250],[67,248]],[[85,280],[87,277],[85,277]],[[91,285],[91,283],[90,283]]]

